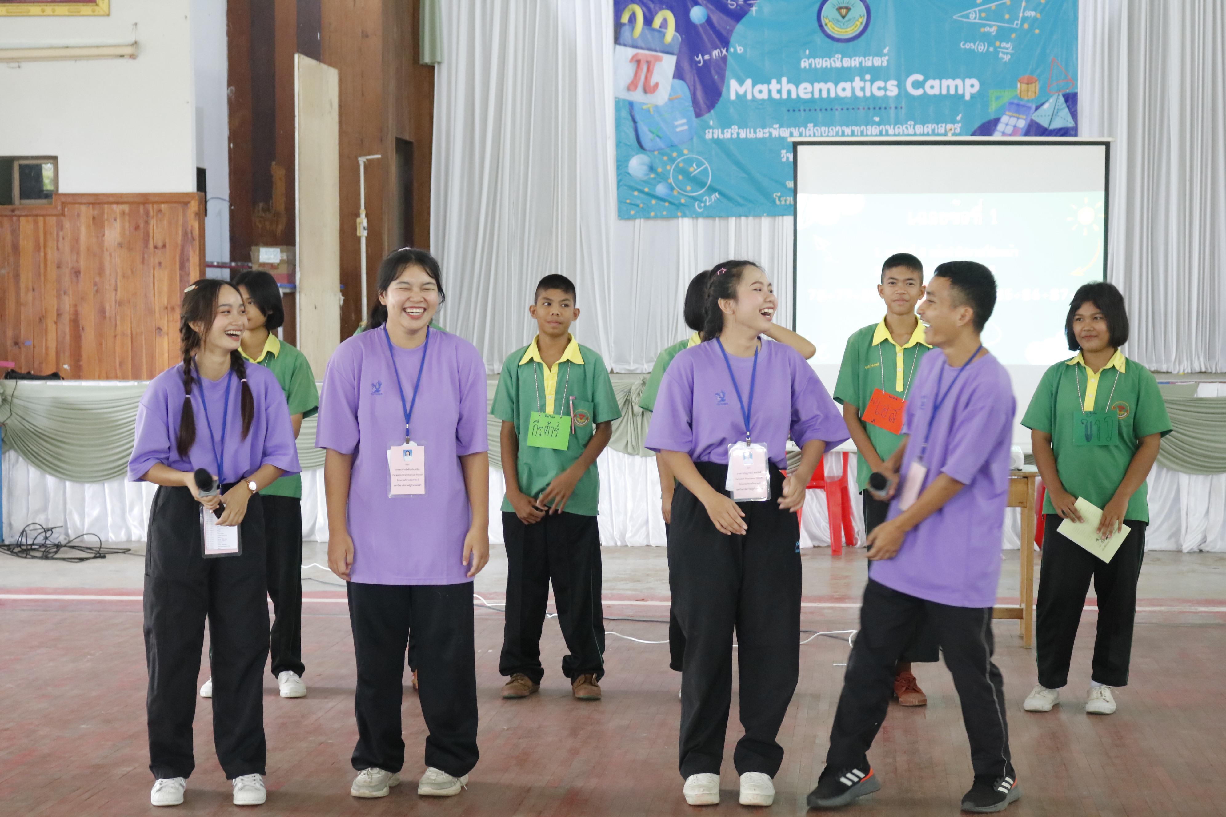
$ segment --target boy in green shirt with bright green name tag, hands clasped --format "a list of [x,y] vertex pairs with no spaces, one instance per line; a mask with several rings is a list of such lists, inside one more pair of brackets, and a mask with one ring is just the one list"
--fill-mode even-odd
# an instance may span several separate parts
[[574,696],[600,701],[604,675],[596,458],[622,416],[601,356],[570,334],[579,317],[565,276],[537,284],[528,312],[538,333],[503,364],[490,414],[503,421],[506,496],[506,625],[499,671],[504,698],[541,688],[541,628],[549,583],[570,654],[562,671]]

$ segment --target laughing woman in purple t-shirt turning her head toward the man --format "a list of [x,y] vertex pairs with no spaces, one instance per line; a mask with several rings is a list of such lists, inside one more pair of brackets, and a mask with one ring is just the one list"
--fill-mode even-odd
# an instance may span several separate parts
[[[783,759],[775,739],[801,660],[796,511],[826,446],[848,437],[804,359],[760,339],[776,306],[756,265],[717,265],[702,343],[679,352],[664,372],[647,432],[647,447],[680,481],[668,530],[668,583],[685,639],[680,772],[693,806],[720,801],[733,632],[745,728],[733,756],[741,802],[774,801],[771,779]],[[801,446],[801,464],[785,479],[788,436]]]

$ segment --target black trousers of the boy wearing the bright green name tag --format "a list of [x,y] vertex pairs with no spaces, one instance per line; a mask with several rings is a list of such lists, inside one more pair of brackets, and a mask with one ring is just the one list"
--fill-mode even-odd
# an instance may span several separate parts
[[558,625],[570,654],[562,659],[568,679],[604,676],[604,611],[601,606],[601,534],[596,517],[579,513],[546,516],[524,524],[503,513],[506,540],[506,625],[498,671],[522,672],[539,683],[541,630],[549,604],[549,582],[558,605]]

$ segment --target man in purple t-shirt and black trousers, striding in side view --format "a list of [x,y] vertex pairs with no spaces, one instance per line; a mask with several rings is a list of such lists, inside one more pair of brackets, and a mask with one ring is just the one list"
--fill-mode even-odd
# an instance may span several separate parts
[[1000,670],[992,663],[1016,408],[1009,375],[980,339],[994,305],[996,279],[973,261],[937,267],[920,305],[924,342],[940,352],[926,355],[916,372],[902,442],[883,469],[893,502],[868,538],[877,563],[812,808],[846,806],[881,788],[867,753],[918,619],[940,642],[962,704],[975,768],[962,811],[1000,811],[1021,796]]

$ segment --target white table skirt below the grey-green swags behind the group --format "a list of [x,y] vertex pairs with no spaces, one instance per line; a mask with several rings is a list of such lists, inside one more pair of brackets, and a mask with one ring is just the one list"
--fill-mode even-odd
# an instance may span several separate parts
[[[597,461],[601,472],[600,527],[604,545],[663,545],[660,478],[656,462],[606,450]],[[837,476],[839,453],[826,454],[826,474]],[[864,518],[856,496],[856,459],[851,458],[852,513],[856,539],[864,541]],[[1226,474],[1181,474],[1155,465],[1149,479],[1150,529],[1148,550],[1226,551]],[[148,510],[157,490],[148,483],[123,479],[109,483],[70,483],[31,467],[16,451],[4,454],[4,538],[13,541],[29,522],[59,525],[66,537],[96,533],[103,541],[143,541]],[[303,474],[303,538],[327,540],[324,470]],[[503,543],[500,506],[503,473],[489,473],[489,540]],[[1008,510],[1004,546],[1016,550],[1020,512]],[[830,545],[826,502],[821,491],[809,491],[804,502],[802,548]],[[2,562],[0,562],[2,565]]]

